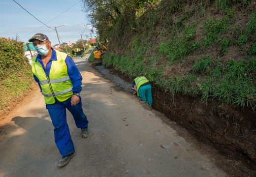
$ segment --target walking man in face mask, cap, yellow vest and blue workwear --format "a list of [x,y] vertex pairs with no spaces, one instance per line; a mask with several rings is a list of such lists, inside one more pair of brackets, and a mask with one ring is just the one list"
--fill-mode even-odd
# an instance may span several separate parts
[[76,126],[81,128],[82,137],[88,136],[88,120],[80,97],[82,76],[67,54],[51,48],[51,42],[46,35],[36,33],[29,42],[33,43],[38,53],[32,58],[32,73],[52,119],[55,143],[63,156],[58,166],[63,167],[75,156],[66,122],[66,109],[74,117]]

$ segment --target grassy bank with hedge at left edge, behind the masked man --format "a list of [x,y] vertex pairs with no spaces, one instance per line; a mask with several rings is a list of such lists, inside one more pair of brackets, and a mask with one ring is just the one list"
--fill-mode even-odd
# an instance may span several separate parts
[[0,110],[32,87],[32,71],[23,43],[0,38]]

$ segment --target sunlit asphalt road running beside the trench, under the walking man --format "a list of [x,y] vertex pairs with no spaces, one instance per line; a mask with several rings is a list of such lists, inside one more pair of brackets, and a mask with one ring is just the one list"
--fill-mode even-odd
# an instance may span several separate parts
[[[119,91],[89,63],[75,59],[83,76],[83,109],[90,135],[82,139],[67,113],[77,155],[58,168],[61,155],[39,89],[0,127],[0,177],[225,177],[185,130],[134,96]],[[67,111],[68,112],[68,111]],[[184,131],[184,132],[182,132]]]

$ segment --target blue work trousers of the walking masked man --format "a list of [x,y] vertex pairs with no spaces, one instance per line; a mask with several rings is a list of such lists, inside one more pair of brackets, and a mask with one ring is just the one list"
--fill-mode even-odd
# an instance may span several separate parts
[[68,124],[66,122],[66,109],[72,114],[77,128],[88,126],[88,120],[82,109],[82,102],[71,106],[71,98],[64,102],[56,101],[55,104],[46,104],[54,126],[55,143],[62,154],[66,156],[75,151]]

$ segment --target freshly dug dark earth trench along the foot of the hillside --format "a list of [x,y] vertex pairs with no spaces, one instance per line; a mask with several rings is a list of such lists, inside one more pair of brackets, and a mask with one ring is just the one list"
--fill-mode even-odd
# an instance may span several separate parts
[[[96,69],[108,77],[109,71],[96,64]],[[110,73],[120,76],[111,79],[121,88],[129,91],[131,79],[119,71],[110,69]],[[199,97],[175,95],[152,84],[153,108],[166,117],[186,128],[195,138],[211,145],[223,155],[239,160],[256,171],[256,117],[251,110],[239,110],[218,101],[202,102]],[[243,168],[240,169],[243,171]]]

